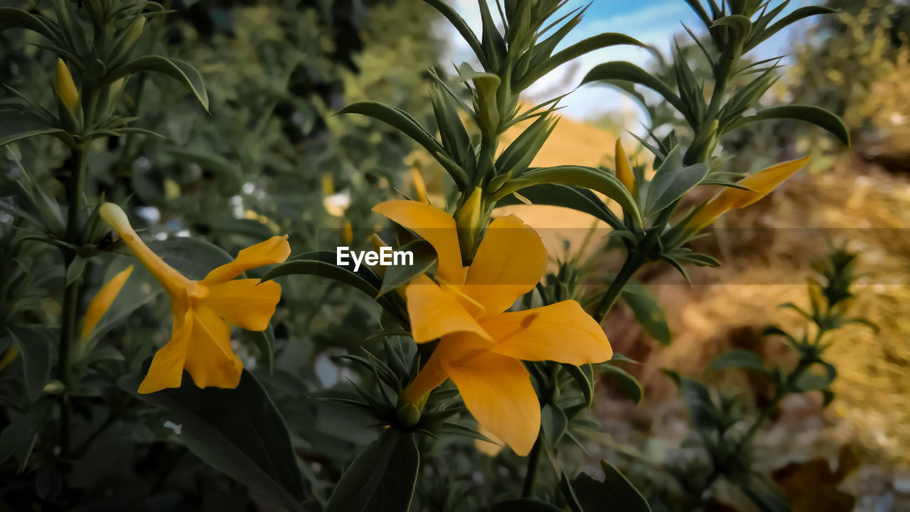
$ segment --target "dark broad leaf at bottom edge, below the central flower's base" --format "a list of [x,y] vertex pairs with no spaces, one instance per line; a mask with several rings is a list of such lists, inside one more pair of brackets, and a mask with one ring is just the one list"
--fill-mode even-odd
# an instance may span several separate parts
[[386,429],[341,476],[325,512],[408,512],[419,467],[414,435]]

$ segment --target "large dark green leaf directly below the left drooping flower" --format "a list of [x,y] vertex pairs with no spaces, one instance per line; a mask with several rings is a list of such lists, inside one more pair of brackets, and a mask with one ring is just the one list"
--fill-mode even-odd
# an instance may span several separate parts
[[206,464],[253,487],[291,510],[307,498],[288,427],[256,377],[244,370],[235,389],[183,385],[157,393],[136,392],[141,375],[117,384],[139,400],[168,411],[179,438]]

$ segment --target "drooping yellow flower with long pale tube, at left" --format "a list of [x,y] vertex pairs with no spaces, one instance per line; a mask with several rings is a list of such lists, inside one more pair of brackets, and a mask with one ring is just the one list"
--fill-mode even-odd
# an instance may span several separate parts
[[102,205],[101,217],[161,283],[174,315],[171,339],[152,359],[139,393],[179,387],[184,368],[199,387],[237,387],[243,364],[230,349],[230,326],[264,331],[281,297],[281,286],[234,278],[249,269],[287,260],[288,236],[248,247],[236,260],[208,272],[202,281],[192,281],[147,247],[116,204]]

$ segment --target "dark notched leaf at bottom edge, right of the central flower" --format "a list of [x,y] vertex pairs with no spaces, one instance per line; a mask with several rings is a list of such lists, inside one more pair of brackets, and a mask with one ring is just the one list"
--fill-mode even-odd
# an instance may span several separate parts
[[571,482],[578,504],[584,512],[651,512],[648,502],[642,493],[622,475],[620,470],[609,462],[602,460],[601,466],[605,475],[603,482],[591,478],[585,473],[576,476]]

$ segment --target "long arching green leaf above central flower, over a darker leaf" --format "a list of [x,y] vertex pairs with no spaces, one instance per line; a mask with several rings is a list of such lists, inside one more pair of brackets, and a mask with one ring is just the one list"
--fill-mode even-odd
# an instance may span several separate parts
[[[622,210],[629,212],[636,224],[642,226],[642,215],[639,213],[638,206],[635,205],[635,200],[632,199],[629,189],[626,189],[622,181],[617,179],[612,173],[602,169],[574,165],[533,169],[522,174],[519,179],[507,181],[502,189],[506,189],[511,193],[532,185],[540,185],[541,183],[571,185],[601,192],[619,203]],[[505,194],[502,194],[502,189],[498,193],[504,197]]]

